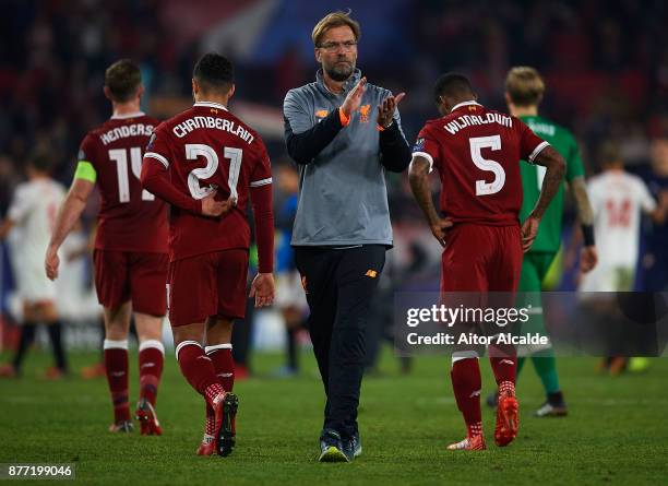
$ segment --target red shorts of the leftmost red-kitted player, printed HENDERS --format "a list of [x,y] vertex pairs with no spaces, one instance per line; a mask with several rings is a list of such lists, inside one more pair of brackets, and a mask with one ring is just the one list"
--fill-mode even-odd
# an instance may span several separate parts
[[99,250],[93,253],[97,300],[115,308],[132,300],[132,310],[165,316],[167,253]]

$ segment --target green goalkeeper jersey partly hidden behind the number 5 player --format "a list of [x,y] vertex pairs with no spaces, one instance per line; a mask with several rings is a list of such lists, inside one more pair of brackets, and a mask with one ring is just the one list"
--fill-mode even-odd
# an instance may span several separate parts
[[[520,119],[524,121],[534,133],[549,142],[565,159],[565,180],[571,181],[575,177],[584,175],[577,143],[569,130],[538,116],[520,117]],[[532,165],[526,161],[522,161],[520,166],[522,173],[522,188],[524,190],[520,221],[524,222],[538,201],[546,168],[539,165]],[[561,244],[562,216],[563,181],[559,186],[559,191],[545,212],[542,220],[540,220],[538,235],[534,240],[530,251],[557,252],[559,250]]]

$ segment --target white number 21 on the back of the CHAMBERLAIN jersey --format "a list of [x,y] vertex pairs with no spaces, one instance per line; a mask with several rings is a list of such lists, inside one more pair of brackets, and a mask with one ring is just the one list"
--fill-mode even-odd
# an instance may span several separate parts
[[[210,187],[201,187],[200,180],[213,177],[218,169],[218,154],[215,150],[202,143],[186,144],[187,159],[196,161],[200,156],[204,157],[206,165],[192,169],[190,174],[188,174],[188,189],[190,189],[190,193],[194,199],[204,199],[211,193],[212,189]],[[229,195],[234,199],[238,199],[237,183],[239,182],[239,171],[241,170],[243,151],[241,149],[226,146],[223,149],[223,156],[229,158],[229,176],[227,178]]]

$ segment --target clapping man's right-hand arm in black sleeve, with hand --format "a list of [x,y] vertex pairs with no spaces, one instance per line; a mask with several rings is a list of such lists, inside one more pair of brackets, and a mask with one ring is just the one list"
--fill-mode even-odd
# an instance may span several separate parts
[[410,146],[402,131],[401,117],[396,109],[404,96],[404,93],[390,95],[378,107],[381,164],[393,173],[402,173],[410,164]]

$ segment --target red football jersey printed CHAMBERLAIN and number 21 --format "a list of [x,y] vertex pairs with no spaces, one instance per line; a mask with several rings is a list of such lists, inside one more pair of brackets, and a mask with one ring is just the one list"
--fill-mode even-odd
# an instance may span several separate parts
[[230,195],[237,205],[223,217],[206,217],[171,206],[170,259],[210,251],[249,248],[246,204],[250,188],[272,183],[266,149],[258,133],[216,103],[192,108],[160,123],[146,157],[168,168],[181,193],[203,199],[217,189],[216,200]]

